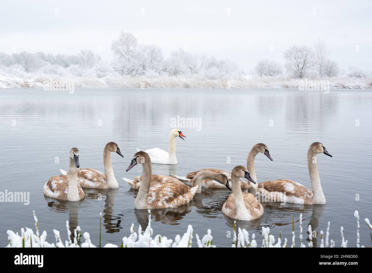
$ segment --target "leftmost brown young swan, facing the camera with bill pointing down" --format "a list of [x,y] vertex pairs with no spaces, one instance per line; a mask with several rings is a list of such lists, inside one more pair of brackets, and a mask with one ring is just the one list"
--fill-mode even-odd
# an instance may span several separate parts
[[52,176],[44,185],[44,194],[61,200],[79,201],[84,199],[83,189],[80,187],[77,178],[79,163],[79,149],[70,150],[70,165],[67,175]]

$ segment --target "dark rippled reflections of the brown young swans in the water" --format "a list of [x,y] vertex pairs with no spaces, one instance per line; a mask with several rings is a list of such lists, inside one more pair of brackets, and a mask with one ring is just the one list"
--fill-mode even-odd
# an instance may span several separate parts
[[[102,200],[105,201],[103,209],[103,225],[106,233],[116,233],[122,229],[122,219],[124,214],[120,212],[117,215],[113,214],[115,196],[118,189],[84,189],[85,199]],[[128,189],[128,193],[133,196],[138,194],[137,190]],[[177,208],[164,208],[151,210],[151,221],[161,222],[166,225],[179,225],[187,213],[195,211],[202,214],[206,218],[221,218],[221,209],[228,198],[230,192],[225,189],[203,189],[201,194],[195,194],[194,198],[188,204]],[[48,207],[56,212],[68,211],[68,220],[71,231],[71,239],[74,237],[74,230],[78,225],[78,208],[80,202],[69,202],[58,200],[44,196],[48,202]],[[299,222],[299,214],[303,215],[303,222],[310,219],[312,231],[316,230],[319,226],[319,220],[322,217],[325,205],[300,205],[300,204],[285,204],[280,205],[280,202],[262,202],[265,213],[262,217],[253,221],[236,221],[237,228],[244,228],[253,232],[261,233],[262,227],[280,227],[288,226],[292,230],[292,217],[294,222]],[[147,209],[134,209],[134,214],[137,223],[141,225],[142,230],[148,225],[148,211]],[[226,220],[226,224],[234,228],[234,219],[228,218],[222,214]],[[288,221],[290,220],[290,221]],[[296,227],[295,227],[296,229]],[[298,225],[297,225],[298,229]],[[307,228],[303,225],[304,238],[309,241],[308,236],[305,236]],[[317,231],[317,230],[316,230]],[[308,232],[307,232],[308,233]],[[317,231],[317,237],[320,236],[320,231]],[[314,247],[318,246],[317,237],[312,238]]]

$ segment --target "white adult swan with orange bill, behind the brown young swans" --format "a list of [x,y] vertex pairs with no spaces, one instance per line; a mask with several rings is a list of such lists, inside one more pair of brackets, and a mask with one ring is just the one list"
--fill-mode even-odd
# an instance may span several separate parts
[[[177,164],[176,137],[180,137],[181,139],[183,139],[182,137],[186,136],[183,135],[179,129],[171,130],[169,134],[168,152],[159,148],[145,150],[144,152],[146,152],[150,156],[151,162],[158,164]],[[140,152],[140,150],[137,149],[137,152]]]

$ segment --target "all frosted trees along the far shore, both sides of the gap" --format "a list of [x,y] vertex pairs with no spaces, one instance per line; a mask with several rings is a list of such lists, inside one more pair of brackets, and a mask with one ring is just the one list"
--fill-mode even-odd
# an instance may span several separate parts
[[[161,48],[154,44],[140,44],[129,32],[121,32],[112,40],[112,61],[103,61],[89,49],[82,49],[76,55],[46,54],[43,52],[0,52],[0,74],[25,77],[26,74],[74,77],[119,77],[121,75],[172,77],[203,77],[207,79],[239,78],[245,73],[229,59],[193,54],[187,47],[171,52],[165,59]],[[340,69],[337,62],[329,59],[329,52],[322,40],[314,46],[289,47],[284,53],[285,64],[270,59],[260,60],[255,69],[256,77],[278,77],[285,72],[291,78],[337,77]],[[366,72],[350,67],[343,73],[349,77],[365,78]]]

